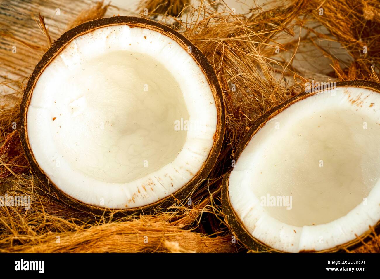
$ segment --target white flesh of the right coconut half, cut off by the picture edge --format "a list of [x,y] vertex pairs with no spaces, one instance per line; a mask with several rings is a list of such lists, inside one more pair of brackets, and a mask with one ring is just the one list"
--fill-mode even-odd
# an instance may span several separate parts
[[292,104],[252,137],[230,203],[257,240],[285,252],[355,240],[380,220],[380,94],[337,87]]

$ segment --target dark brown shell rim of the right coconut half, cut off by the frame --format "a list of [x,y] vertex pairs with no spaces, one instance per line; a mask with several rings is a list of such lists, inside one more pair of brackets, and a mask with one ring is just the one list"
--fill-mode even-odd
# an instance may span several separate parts
[[[336,83],[336,87],[361,87],[361,88],[368,88],[380,93],[380,84],[375,83],[375,82],[370,82],[367,80],[339,81]],[[320,91],[315,91],[311,93],[301,93],[299,95],[294,96],[293,98],[288,99],[287,101],[283,102],[279,106],[272,108],[268,112],[264,113],[260,118],[258,118],[258,120],[256,120],[253,123],[247,135],[243,138],[242,142],[238,145],[234,160],[237,162],[240,154],[243,152],[244,148],[250,142],[252,137],[255,136],[255,134],[266,124],[268,120],[270,120],[272,117],[282,112],[283,110],[287,109],[292,104],[298,101],[301,101],[305,98],[308,98],[310,96],[313,96],[314,94],[317,94]],[[237,238],[237,240],[239,240],[248,249],[252,249],[254,251],[261,251],[261,252],[283,252],[283,251],[276,250],[266,245],[265,243],[261,242],[260,240],[254,238],[247,231],[245,226],[242,224],[241,220],[237,216],[230,202],[230,194],[228,192],[230,174],[231,172],[226,173],[223,178],[222,193],[221,193],[222,210],[223,210],[223,215],[224,215],[228,229],[233,233],[233,235]],[[380,220],[377,222],[374,229],[377,234],[380,233]],[[365,242],[367,239],[369,239],[369,235],[371,234],[371,232],[372,230],[368,229],[365,233],[363,233],[363,235],[358,236],[356,239],[352,241],[349,241],[347,243],[341,244],[336,247],[332,247],[330,249],[318,251],[318,252],[325,252],[325,253],[344,252],[347,250],[355,249],[363,244],[363,240]],[[316,251],[300,251],[300,252],[316,252]]]

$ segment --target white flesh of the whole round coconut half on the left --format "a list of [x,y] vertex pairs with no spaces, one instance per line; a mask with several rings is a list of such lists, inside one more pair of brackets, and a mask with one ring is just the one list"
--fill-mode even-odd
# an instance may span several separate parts
[[64,193],[138,208],[187,184],[209,156],[217,109],[176,41],[111,25],[71,41],[44,69],[27,112],[33,155]]

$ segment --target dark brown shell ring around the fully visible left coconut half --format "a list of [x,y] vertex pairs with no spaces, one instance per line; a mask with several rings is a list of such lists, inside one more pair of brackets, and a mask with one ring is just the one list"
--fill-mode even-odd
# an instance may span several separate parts
[[217,115],[218,115],[218,123],[217,123],[217,131],[214,134],[214,144],[209,153],[209,156],[206,159],[206,162],[203,164],[202,168],[198,173],[181,189],[174,192],[173,194],[169,194],[164,199],[159,200],[158,202],[139,207],[139,208],[127,208],[122,210],[117,210],[117,214],[131,214],[131,213],[144,213],[151,214],[157,208],[168,208],[173,205],[176,200],[185,199],[188,194],[198,186],[199,182],[203,179],[207,178],[209,173],[211,172],[214,164],[217,160],[217,157],[220,153],[220,148],[222,147],[223,136],[225,131],[225,109],[223,104],[223,96],[222,90],[218,83],[217,76],[215,74],[214,69],[211,66],[211,63],[207,60],[206,56],[187,38],[185,38],[180,33],[174,31],[172,28],[169,28],[165,25],[159,24],[152,20],[147,20],[139,17],[130,17],[130,16],[114,16],[114,17],[106,17],[102,19],[96,19],[84,24],[78,25],[67,32],[65,32],[62,36],[60,36],[57,41],[47,50],[47,52],[43,55],[40,62],[36,65],[33,70],[32,75],[30,76],[27,86],[24,90],[24,95],[22,97],[21,107],[20,107],[20,119],[21,119],[21,128],[19,129],[20,140],[22,144],[22,148],[24,149],[25,156],[30,164],[33,174],[41,181],[49,191],[57,197],[57,199],[61,200],[64,203],[67,203],[69,206],[74,206],[79,210],[92,212],[95,214],[103,214],[104,211],[112,210],[109,208],[102,208],[98,206],[93,206],[90,204],[86,204],[76,200],[75,198],[65,194],[62,192],[57,185],[55,185],[49,177],[47,177],[44,170],[41,169],[38,162],[36,161],[33,151],[29,145],[28,134],[27,134],[27,112],[30,104],[30,100],[33,94],[33,89],[36,85],[38,78],[41,73],[44,71],[47,65],[51,63],[54,58],[59,55],[59,53],[67,46],[73,39],[78,36],[84,35],[86,33],[92,32],[95,29],[106,27],[109,25],[119,25],[126,24],[130,27],[142,27],[148,28],[150,30],[154,30],[162,33],[163,35],[168,36],[171,39],[174,39],[180,46],[182,46],[185,50],[188,49],[188,46],[192,48],[192,52],[189,54],[198,64],[199,68],[202,69],[206,79],[211,87],[212,94],[214,95],[215,104],[217,107]]

